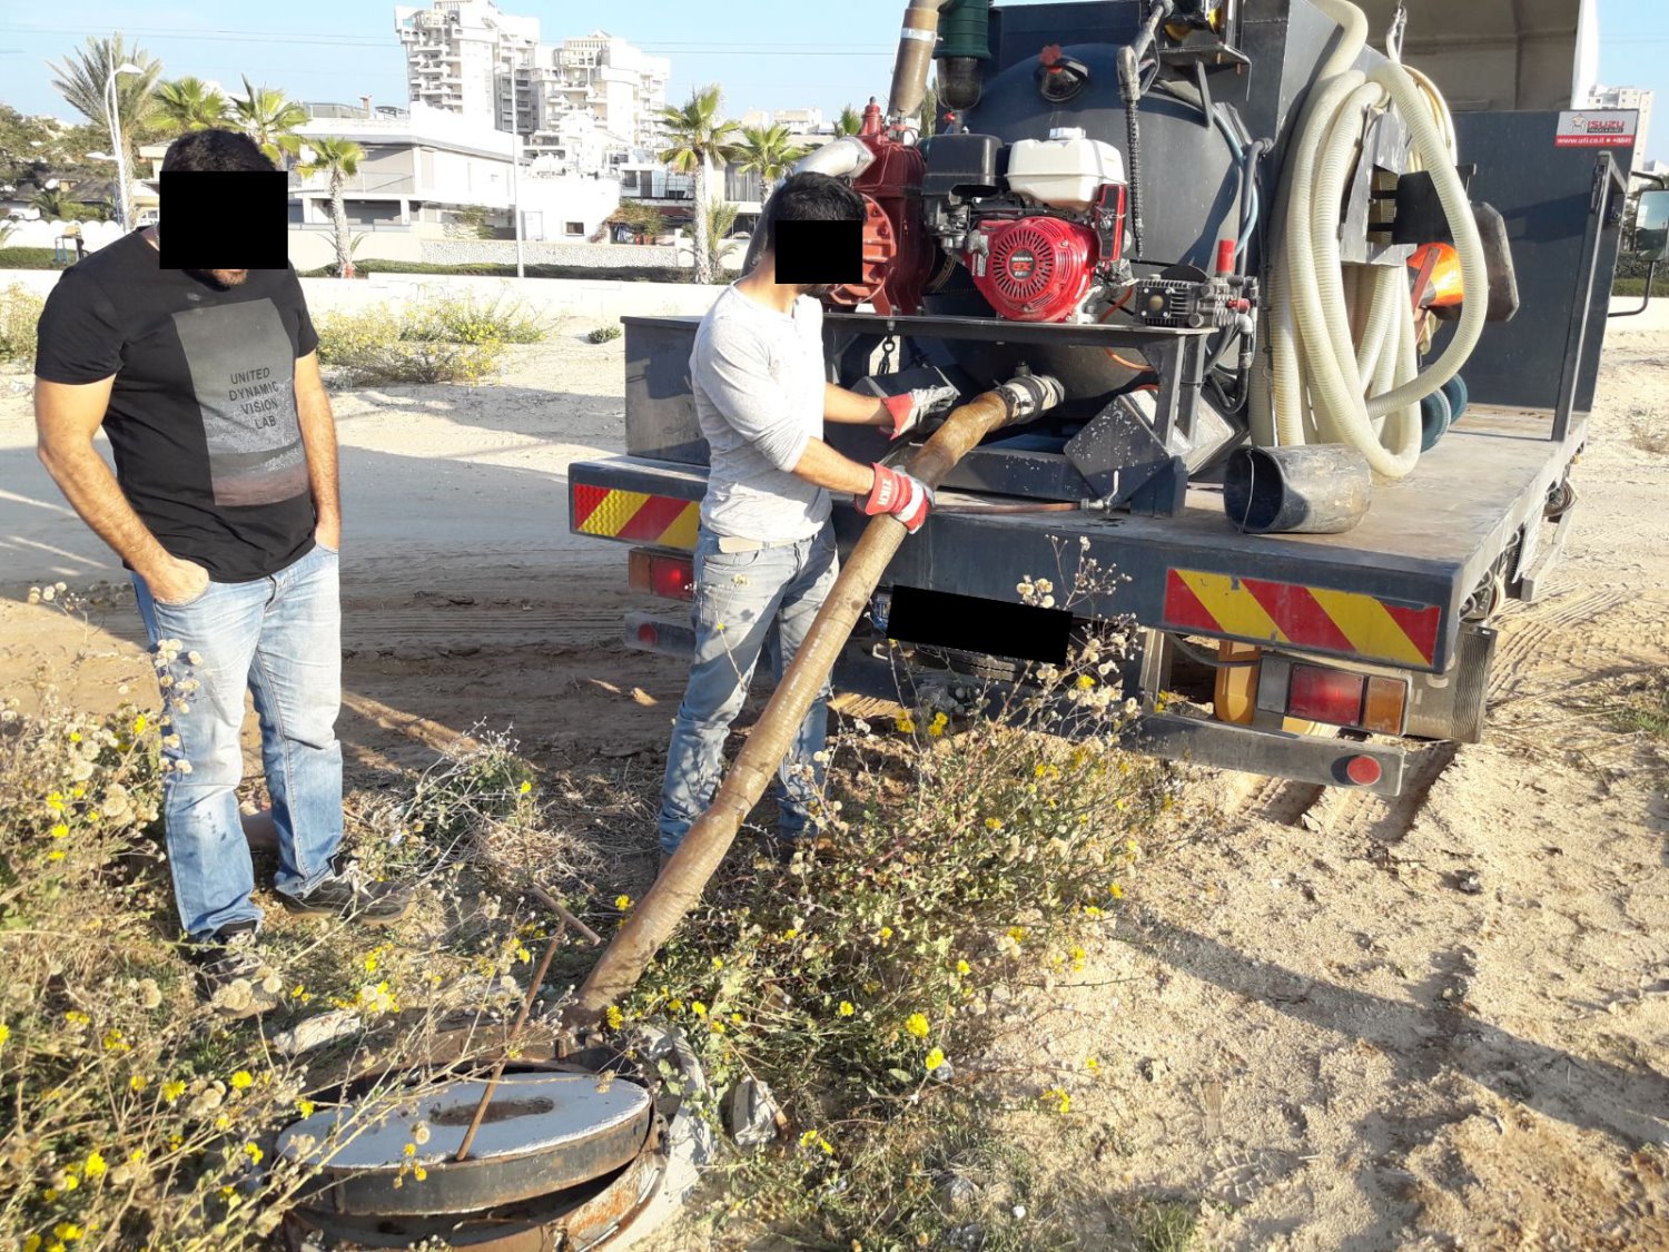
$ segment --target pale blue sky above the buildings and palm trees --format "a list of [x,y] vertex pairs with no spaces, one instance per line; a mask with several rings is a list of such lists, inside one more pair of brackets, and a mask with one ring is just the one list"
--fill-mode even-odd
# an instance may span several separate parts
[[[416,0],[412,0],[416,3]],[[427,7],[424,2],[421,7]],[[194,73],[235,87],[284,88],[300,100],[406,103],[406,60],[394,5],[381,0],[217,0],[207,5],[78,0],[55,17],[47,5],[0,0],[0,102],[25,114],[75,117],[53,90],[47,62],[88,35],[122,30],[159,57],[167,77]],[[624,8],[552,0],[501,0],[537,17],[547,43],[606,28],[673,60],[669,98],[718,82],[733,117],[751,109],[841,105],[885,97],[903,0],[634,0]],[[214,17],[205,18],[210,12]],[[723,15],[723,18],[719,18]],[[838,28],[828,28],[829,15]],[[1652,152],[1669,160],[1669,3],[1599,0],[1601,82],[1652,87]],[[763,50],[768,48],[768,50]],[[75,119],[78,120],[78,119]]]

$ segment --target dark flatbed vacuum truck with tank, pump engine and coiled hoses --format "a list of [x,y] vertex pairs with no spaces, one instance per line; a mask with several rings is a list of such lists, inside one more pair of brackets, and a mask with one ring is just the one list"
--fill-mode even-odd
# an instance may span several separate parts
[[[951,471],[836,684],[1018,681],[1120,633],[1140,751],[1397,795],[1409,745],[1477,741],[1492,623],[1577,512],[1629,227],[1637,117],[1572,109],[1584,10],[911,0],[886,105],[799,165],[868,214],[829,381],[1066,399]],[[698,321],[624,324],[628,454],[571,467],[569,524],[664,604],[628,646],[688,653]]]

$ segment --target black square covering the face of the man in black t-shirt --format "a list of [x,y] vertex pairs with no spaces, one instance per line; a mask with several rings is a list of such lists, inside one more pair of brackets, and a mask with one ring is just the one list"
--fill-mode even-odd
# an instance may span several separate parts
[[285,269],[290,175],[164,170],[157,245],[164,269]]

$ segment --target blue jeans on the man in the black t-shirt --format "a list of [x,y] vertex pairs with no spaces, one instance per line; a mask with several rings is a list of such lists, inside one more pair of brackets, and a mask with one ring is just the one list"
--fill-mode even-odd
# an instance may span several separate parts
[[237,811],[245,688],[255,696],[279,831],[275,886],[302,896],[334,873],[330,858],[342,843],[337,559],[314,546],[270,578],[210,583],[185,604],[159,603],[134,578],[162,681],[162,756],[172,763],[164,773],[162,818],[174,898],[192,938],[262,916],[249,898],[255,866]]

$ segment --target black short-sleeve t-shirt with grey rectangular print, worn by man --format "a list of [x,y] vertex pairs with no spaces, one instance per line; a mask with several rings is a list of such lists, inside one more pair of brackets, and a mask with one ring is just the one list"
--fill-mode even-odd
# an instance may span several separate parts
[[162,269],[135,230],[58,279],[35,374],[113,374],[103,429],[122,494],[170,554],[247,583],[314,546],[295,359],[317,346],[294,269],[222,290]]

